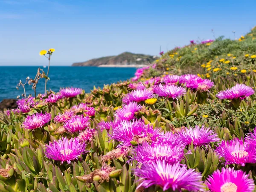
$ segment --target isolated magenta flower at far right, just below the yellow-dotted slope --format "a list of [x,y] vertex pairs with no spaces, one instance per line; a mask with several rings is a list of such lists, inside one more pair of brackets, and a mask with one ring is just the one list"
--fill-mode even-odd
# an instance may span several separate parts
[[253,88],[248,87],[245,84],[236,84],[230,89],[220,91],[216,96],[219,99],[245,99],[253,93]]

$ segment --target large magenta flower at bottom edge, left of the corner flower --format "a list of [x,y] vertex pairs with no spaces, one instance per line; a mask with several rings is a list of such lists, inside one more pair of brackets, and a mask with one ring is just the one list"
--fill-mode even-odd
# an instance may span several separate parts
[[187,169],[185,165],[179,163],[169,164],[164,160],[157,162],[143,163],[141,169],[134,169],[134,174],[140,177],[140,183],[137,186],[148,188],[157,185],[163,188],[163,191],[172,189],[173,191],[204,191],[201,174],[195,172],[195,169]]

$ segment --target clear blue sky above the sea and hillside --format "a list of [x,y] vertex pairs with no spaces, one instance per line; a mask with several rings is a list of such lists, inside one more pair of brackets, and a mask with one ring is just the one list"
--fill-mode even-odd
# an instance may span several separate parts
[[157,55],[256,25],[255,0],[0,0],[0,65],[71,65],[129,51]]

